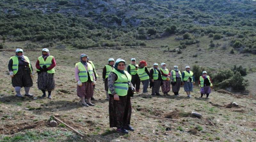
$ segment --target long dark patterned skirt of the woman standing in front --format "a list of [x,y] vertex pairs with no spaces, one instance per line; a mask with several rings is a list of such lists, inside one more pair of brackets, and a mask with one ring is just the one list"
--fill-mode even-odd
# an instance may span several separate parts
[[114,100],[114,96],[109,94],[109,126],[124,127],[130,125],[132,115],[132,104],[129,95],[119,96],[119,101]]

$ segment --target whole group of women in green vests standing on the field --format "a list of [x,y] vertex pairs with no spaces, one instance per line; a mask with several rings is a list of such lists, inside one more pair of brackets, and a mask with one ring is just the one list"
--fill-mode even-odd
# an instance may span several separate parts
[[[38,73],[37,86],[43,92],[41,98],[46,97],[51,99],[51,92],[55,88],[54,83],[54,67],[56,62],[53,56],[50,56],[48,49],[42,50],[42,56],[38,57],[36,62],[36,71]],[[32,97],[29,89],[33,86],[31,76],[34,75],[33,68],[27,56],[24,56],[22,49],[16,49],[16,55],[12,56],[9,64],[9,72],[12,77],[12,86],[15,87],[16,96],[23,97],[20,94],[21,87],[25,88],[25,96]],[[191,97],[195,77],[190,67],[186,66],[186,71],[182,74],[175,65],[170,72],[166,68],[166,64],[162,63],[161,68],[155,63],[148,71],[147,62],[140,61],[136,64],[136,59],[131,59],[131,64],[128,65],[125,71],[126,62],[118,58],[108,59],[108,64],[104,66],[102,78],[105,84],[106,100],[109,100],[109,123],[110,127],[116,127],[116,131],[128,133],[134,131],[130,125],[132,105],[131,96],[134,92],[140,92],[140,82],[143,84],[143,94],[148,94],[148,86],[152,87],[151,95],[160,95],[160,86],[164,95],[169,95],[172,85],[174,95],[179,95],[181,85],[184,85],[184,90],[188,97]],[[94,106],[91,100],[93,99],[93,89],[96,84],[98,75],[92,61],[86,54],[80,55],[80,61],[75,65],[75,78],[77,81],[77,96],[80,97],[82,105],[89,107]],[[135,86],[136,88],[134,88]],[[199,78],[199,86],[201,87],[201,97],[206,94],[208,98],[212,80],[204,71]]]

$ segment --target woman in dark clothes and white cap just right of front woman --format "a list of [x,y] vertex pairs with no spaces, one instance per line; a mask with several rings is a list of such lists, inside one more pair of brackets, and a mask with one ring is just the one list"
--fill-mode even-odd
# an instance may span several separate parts
[[138,75],[138,64],[136,64],[136,59],[131,59],[131,64],[128,65],[127,71],[132,75],[132,85],[136,86],[136,92],[140,92],[140,77]]

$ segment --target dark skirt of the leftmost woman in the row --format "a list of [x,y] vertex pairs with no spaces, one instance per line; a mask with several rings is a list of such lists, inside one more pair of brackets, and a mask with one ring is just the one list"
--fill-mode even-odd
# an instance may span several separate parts
[[18,72],[12,78],[12,86],[16,87],[32,87],[33,81],[30,76],[29,68],[18,70]]

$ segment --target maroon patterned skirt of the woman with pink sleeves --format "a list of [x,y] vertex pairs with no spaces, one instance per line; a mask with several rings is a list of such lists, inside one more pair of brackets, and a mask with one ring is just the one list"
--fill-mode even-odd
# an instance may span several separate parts
[[83,82],[81,87],[77,85],[76,92],[78,97],[85,97],[86,99],[91,98],[93,95],[92,82]]

